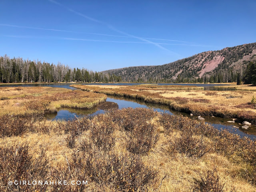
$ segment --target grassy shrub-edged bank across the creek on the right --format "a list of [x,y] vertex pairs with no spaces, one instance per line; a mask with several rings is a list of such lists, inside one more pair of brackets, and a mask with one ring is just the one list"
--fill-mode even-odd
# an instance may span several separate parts
[[240,118],[256,124],[256,108],[250,104],[253,91],[205,91],[191,86],[94,86],[70,85],[89,92],[125,96],[166,104],[172,110],[194,115]]

